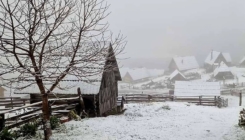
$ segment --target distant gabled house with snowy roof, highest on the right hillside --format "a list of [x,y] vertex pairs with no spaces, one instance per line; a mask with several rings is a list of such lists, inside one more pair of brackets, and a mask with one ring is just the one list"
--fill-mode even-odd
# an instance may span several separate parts
[[211,51],[204,62],[206,72],[213,72],[221,62],[224,62],[228,67],[231,66],[231,56],[229,53]]

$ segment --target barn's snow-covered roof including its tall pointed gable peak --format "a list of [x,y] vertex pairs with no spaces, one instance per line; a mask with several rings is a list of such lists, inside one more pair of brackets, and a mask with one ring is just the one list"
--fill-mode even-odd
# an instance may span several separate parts
[[[109,45],[109,46],[108,46]],[[101,80],[103,78],[104,72],[107,70],[113,70],[116,80],[121,80],[121,75],[117,65],[117,60],[114,54],[114,50],[111,44],[105,46],[103,51],[100,53],[100,59],[96,61],[88,61],[86,65],[78,64],[72,69],[66,77],[61,80],[58,86],[53,90],[54,93],[67,93],[67,94],[77,94],[77,88],[80,87],[82,94],[98,94],[100,89]],[[81,53],[81,55],[83,55]],[[62,61],[62,58],[61,58]],[[98,61],[98,62],[97,62]],[[63,61],[62,61],[63,62]],[[66,62],[64,60],[64,62]],[[88,72],[87,75],[76,76],[77,69],[82,68],[84,71]],[[55,75],[60,71],[64,71],[65,67],[48,67],[45,71],[45,75]],[[54,78],[43,79],[44,86],[46,89],[49,89],[56,80],[56,75]],[[25,87],[25,88],[24,88]],[[20,81],[15,86],[15,94],[22,93],[39,93],[39,88],[35,80],[32,78],[25,79],[25,81]]]

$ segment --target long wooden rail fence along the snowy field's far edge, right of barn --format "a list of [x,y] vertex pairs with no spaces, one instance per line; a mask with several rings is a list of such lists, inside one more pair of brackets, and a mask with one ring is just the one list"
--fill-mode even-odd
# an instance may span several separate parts
[[166,96],[161,94],[144,95],[144,94],[130,94],[125,95],[126,103],[130,102],[188,102],[203,106],[218,106],[227,107],[228,99],[219,96]]

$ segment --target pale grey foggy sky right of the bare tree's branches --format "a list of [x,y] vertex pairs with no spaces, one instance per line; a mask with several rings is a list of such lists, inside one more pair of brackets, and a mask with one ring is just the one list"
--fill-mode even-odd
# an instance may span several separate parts
[[[195,55],[202,64],[212,49],[230,52],[234,63],[245,55],[244,0],[107,1],[110,29],[127,36],[125,66],[162,68],[175,55]],[[139,60],[149,62],[131,64]]]

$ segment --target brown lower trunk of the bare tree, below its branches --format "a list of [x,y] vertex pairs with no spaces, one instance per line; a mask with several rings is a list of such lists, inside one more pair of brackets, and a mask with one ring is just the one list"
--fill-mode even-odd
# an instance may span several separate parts
[[44,139],[49,140],[52,135],[51,125],[50,125],[50,111],[48,104],[48,94],[43,94],[43,129],[44,129]]

